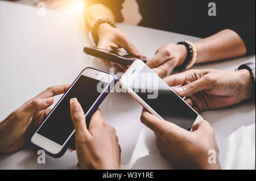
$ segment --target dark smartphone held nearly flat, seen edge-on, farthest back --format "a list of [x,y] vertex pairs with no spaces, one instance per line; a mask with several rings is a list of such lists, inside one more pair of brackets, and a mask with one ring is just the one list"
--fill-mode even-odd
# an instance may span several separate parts
[[[84,52],[90,56],[102,58],[122,65],[131,65],[138,59],[138,57],[127,52],[104,48],[84,47]],[[142,61],[146,63],[147,58],[144,58]]]

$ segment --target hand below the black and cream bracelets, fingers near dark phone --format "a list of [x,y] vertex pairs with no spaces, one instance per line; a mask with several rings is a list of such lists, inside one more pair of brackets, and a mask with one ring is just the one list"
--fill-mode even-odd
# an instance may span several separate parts
[[172,70],[185,61],[187,57],[187,48],[184,45],[167,43],[156,50],[155,56],[147,61],[149,66],[158,76],[164,78],[168,76]]

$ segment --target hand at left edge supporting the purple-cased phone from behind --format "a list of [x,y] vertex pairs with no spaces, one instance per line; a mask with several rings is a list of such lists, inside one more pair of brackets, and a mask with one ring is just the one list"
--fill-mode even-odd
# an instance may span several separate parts
[[49,87],[13,111],[0,123],[0,153],[11,153],[23,148],[51,111],[53,96],[63,94],[69,85]]

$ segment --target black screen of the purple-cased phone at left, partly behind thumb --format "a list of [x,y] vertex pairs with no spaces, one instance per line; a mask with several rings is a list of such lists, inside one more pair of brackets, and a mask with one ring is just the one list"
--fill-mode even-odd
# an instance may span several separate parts
[[[75,84],[67,94],[64,95],[61,102],[57,104],[55,110],[53,110],[46,121],[44,121],[37,133],[59,145],[63,145],[75,129],[71,120],[69,99],[77,98],[84,112],[88,112],[101,94],[101,92],[97,90],[97,84],[99,82],[100,81],[97,79],[80,75]],[[101,83],[102,87],[108,85],[108,83],[105,82]],[[88,123],[88,120],[86,120],[86,123]]]

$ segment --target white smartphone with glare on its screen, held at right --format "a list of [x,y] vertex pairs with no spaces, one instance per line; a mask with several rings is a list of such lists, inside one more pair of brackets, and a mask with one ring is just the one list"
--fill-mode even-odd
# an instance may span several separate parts
[[141,60],[133,62],[122,75],[120,83],[124,90],[159,119],[170,121],[189,131],[193,124],[203,120]]

